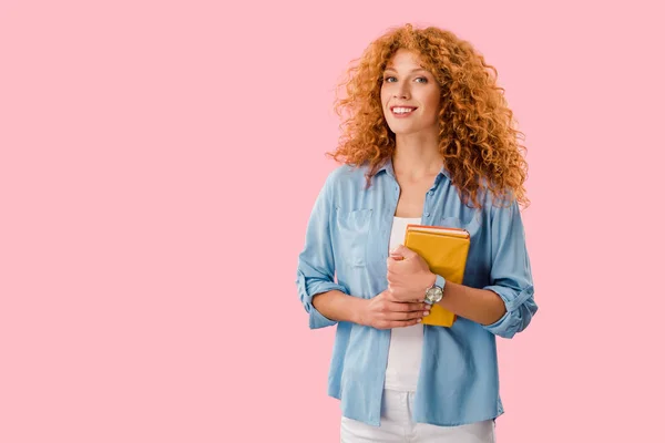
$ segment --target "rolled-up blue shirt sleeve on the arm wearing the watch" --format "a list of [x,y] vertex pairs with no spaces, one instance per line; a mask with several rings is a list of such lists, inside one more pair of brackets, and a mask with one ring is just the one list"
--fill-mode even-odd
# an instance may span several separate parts
[[491,255],[489,289],[505,303],[505,313],[484,328],[500,337],[512,338],[523,331],[538,311],[534,301],[531,262],[526,251],[524,225],[520,207],[497,207],[491,217]]

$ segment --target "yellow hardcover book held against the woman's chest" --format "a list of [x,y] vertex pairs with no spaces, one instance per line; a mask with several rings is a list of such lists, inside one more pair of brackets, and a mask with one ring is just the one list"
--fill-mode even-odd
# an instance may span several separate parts
[[[454,284],[461,284],[464,278],[470,244],[469,231],[460,228],[408,225],[405,234],[405,246],[418,253],[432,272]],[[422,318],[422,324],[451,327],[456,317],[451,311],[433,305],[430,315]]]

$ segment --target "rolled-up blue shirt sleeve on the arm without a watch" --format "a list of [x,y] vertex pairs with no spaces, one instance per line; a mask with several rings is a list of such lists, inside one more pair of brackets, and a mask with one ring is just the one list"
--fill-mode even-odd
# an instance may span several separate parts
[[321,315],[311,303],[317,293],[346,289],[334,281],[335,261],[330,231],[332,208],[331,177],[326,179],[309,216],[305,234],[305,247],[298,256],[296,285],[305,311],[309,313],[309,328],[317,329],[337,323]]

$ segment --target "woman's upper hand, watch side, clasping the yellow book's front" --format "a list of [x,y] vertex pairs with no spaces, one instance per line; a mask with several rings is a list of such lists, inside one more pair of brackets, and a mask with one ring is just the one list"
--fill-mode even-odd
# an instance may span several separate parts
[[388,289],[402,301],[422,301],[437,276],[415,250],[399,245],[388,257]]

